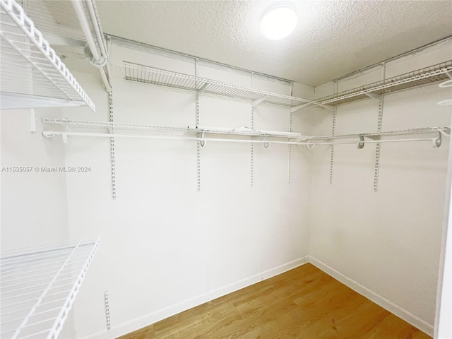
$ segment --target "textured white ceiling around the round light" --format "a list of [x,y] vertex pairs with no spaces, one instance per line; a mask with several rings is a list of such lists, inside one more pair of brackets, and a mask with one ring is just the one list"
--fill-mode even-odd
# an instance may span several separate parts
[[273,2],[96,3],[105,33],[308,85],[452,35],[452,1],[293,1],[295,32],[271,41],[259,21]]

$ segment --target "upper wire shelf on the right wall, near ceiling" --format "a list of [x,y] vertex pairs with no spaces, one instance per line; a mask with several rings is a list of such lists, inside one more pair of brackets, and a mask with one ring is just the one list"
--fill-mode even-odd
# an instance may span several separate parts
[[340,105],[345,102],[352,102],[368,98],[366,93],[374,93],[378,95],[397,92],[398,90],[407,90],[415,88],[420,85],[428,85],[429,83],[436,83],[448,79],[448,72],[452,72],[452,60],[418,69],[410,73],[405,73],[400,76],[394,76],[383,81],[370,83],[359,88],[353,88],[335,95],[322,97],[317,99],[321,105]]

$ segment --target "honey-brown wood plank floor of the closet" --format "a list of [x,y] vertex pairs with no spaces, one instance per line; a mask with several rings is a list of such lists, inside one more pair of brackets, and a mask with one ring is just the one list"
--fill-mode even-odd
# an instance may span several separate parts
[[431,337],[307,263],[121,337],[151,338]]

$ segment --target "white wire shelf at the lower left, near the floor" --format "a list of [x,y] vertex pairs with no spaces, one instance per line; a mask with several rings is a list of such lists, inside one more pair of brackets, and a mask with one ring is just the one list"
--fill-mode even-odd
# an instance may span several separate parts
[[0,338],[57,338],[99,243],[1,252]]

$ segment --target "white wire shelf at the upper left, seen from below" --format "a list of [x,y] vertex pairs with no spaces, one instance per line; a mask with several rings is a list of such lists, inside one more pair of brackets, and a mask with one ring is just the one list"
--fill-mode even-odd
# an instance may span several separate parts
[[[2,95],[27,95],[63,102],[95,105],[44,40],[23,8],[14,0],[0,0]],[[54,102],[53,102],[54,104]]]

